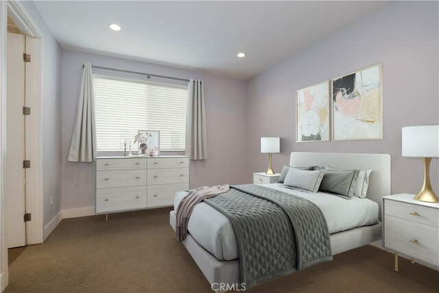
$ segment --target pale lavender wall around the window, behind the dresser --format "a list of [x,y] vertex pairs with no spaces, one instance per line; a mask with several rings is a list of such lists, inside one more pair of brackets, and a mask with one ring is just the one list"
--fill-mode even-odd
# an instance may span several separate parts
[[[209,159],[191,161],[191,187],[237,184],[246,180],[244,81],[137,61],[62,51],[62,209],[95,206],[95,163],[67,161],[85,61],[104,67],[203,80]],[[114,71],[93,72],[139,78],[139,75],[117,74]]]

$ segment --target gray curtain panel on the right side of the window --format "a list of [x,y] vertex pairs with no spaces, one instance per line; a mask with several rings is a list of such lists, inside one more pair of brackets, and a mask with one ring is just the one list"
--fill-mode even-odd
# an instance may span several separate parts
[[187,85],[186,155],[191,160],[207,159],[206,110],[204,85],[201,80],[189,80]]

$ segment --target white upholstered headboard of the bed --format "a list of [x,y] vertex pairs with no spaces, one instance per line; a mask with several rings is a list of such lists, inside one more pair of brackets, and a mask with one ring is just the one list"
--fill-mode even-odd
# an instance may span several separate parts
[[369,176],[366,198],[379,205],[381,219],[381,198],[390,195],[390,154],[346,154],[340,152],[292,152],[290,165],[328,165],[337,169],[373,170]]

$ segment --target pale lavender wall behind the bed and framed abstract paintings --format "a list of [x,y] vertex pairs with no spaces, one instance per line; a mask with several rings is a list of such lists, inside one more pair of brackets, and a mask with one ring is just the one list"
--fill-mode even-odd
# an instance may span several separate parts
[[[401,127],[438,124],[438,2],[398,2],[303,50],[248,81],[249,169],[267,167],[259,138],[281,137],[274,154],[279,172],[289,153],[366,152],[392,156],[392,193],[416,193],[420,159],[401,156]],[[383,140],[296,143],[296,90],[383,63]],[[438,159],[431,165],[438,188]]]

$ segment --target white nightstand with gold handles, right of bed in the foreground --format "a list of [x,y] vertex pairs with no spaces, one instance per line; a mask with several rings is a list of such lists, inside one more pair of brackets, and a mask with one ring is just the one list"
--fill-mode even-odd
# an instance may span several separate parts
[[439,204],[413,194],[383,196],[383,246],[395,253],[439,267]]

